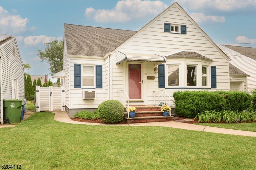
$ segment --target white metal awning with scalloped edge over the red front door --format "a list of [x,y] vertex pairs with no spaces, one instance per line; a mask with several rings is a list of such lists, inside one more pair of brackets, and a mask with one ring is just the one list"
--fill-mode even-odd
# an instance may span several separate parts
[[156,54],[142,54],[142,53],[122,53],[116,52],[116,64],[122,61],[150,61],[159,65],[166,62],[166,58]]

